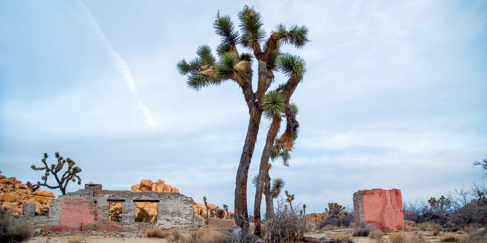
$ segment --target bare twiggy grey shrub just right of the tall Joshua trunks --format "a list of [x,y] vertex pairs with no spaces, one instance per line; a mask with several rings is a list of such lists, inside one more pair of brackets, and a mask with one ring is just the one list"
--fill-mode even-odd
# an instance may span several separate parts
[[293,207],[291,210],[285,206],[287,206],[287,202],[280,198],[274,208],[274,217],[265,219],[265,224],[262,225],[264,242],[297,242],[301,238],[304,231],[303,220],[299,217],[301,208]]

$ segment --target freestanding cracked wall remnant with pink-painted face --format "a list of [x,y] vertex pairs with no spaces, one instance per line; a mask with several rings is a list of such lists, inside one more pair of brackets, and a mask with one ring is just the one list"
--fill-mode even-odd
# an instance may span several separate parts
[[401,190],[359,190],[354,193],[355,222],[358,226],[374,225],[385,232],[400,231],[405,227],[401,212]]

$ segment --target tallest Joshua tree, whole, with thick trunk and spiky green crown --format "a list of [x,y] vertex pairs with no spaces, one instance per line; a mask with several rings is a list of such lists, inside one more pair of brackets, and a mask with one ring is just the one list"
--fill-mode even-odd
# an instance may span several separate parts
[[[216,15],[213,28],[215,33],[221,36],[221,43],[216,48],[218,59],[213,56],[209,46],[202,45],[196,51],[196,58],[189,62],[182,59],[176,66],[181,75],[187,75],[187,87],[194,90],[220,85],[225,81],[233,81],[242,89],[250,119],[235,181],[235,223],[246,232],[249,226],[248,168],[261,122],[262,98],[274,80],[274,72],[279,71],[277,62],[281,54],[280,44],[301,48],[309,40],[308,29],[297,25],[286,29],[284,25],[278,24],[277,29],[266,37],[266,32],[262,28],[262,16],[253,7],[244,6],[238,13],[238,19],[240,30],[235,30],[230,16],[221,16],[220,13]],[[249,52],[239,53],[237,45]],[[254,60],[258,65],[255,92],[252,88]]]

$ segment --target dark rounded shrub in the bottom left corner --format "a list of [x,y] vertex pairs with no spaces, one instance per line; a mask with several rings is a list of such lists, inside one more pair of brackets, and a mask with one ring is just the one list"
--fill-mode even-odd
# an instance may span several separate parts
[[0,242],[23,242],[32,236],[27,222],[14,219],[7,211],[0,210]]

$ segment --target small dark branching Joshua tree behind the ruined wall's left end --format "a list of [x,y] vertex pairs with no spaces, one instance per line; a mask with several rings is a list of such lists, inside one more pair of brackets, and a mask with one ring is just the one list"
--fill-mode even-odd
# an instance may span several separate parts
[[[35,171],[42,171],[45,170],[46,174],[41,177],[41,180],[44,182],[37,181],[37,184],[32,184],[30,181],[27,182],[27,186],[29,190],[36,190],[39,186],[44,186],[50,189],[59,188],[63,195],[66,195],[66,187],[68,186],[68,182],[72,181],[75,182],[78,179],[78,185],[81,185],[81,178],[77,175],[81,172],[81,168],[74,166],[75,161],[71,158],[64,159],[63,156],[59,156],[59,152],[56,152],[57,164],[52,164],[50,167],[47,165],[46,159],[49,157],[47,153],[44,153],[44,157],[42,158],[42,163],[44,163],[44,167],[36,167],[36,165],[31,165],[31,168]],[[64,165],[68,163],[67,170],[59,177],[57,175],[63,169]],[[47,184],[47,177],[52,174],[56,179],[57,186],[50,186]]]

